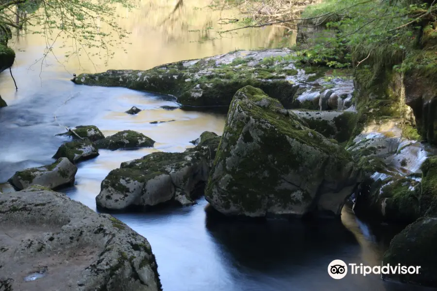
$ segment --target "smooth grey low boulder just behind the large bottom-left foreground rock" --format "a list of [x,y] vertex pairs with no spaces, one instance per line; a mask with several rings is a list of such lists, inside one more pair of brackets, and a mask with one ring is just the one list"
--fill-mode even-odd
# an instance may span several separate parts
[[54,189],[73,183],[76,172],[77,167],[67,158],[59,158],[50,165],[18,171],[9,182],[19,190],[32,185]]

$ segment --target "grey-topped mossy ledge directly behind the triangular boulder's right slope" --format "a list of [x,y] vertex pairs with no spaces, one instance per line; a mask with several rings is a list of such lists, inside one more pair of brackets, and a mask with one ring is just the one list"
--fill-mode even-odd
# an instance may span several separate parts
[[293,113],[301,117],[310,129],[339,143],[349,141],[356,125],[356,112],[294,110]]

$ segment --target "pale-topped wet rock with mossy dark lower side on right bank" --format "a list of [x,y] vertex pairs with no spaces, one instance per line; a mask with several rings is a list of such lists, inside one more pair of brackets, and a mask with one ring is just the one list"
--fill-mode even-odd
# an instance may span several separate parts
[[348,150],[366,174],[354,195],[353,210],[361,216],[394,223],[418,219],[425,160],[436,150],[402,137],[394,121],[366,128]]

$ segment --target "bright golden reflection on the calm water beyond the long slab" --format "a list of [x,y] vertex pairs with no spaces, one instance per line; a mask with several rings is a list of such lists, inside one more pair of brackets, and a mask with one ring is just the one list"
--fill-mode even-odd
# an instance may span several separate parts
[[[283,30],[279,27],[245,29],[237,34],[227,33],[220,37],[214,31],[237,27],[220,25],[220,18],[242,17],[238,16],[237,10],[211,10],[207,7],[210,0],[183,0],[183,4],[177,7],[178,0],[136,0],[135,3],[138,9],[131,11],[117,7],[117,14],[120,16],[118,25],[131,34],[123,40],[123,48],[112,49],[116,54],[108,61],[107,66],[104,64],[106,58],[91,57],[90,61],[83,52],[79,58],[70,58],[65,64],[66,69],[75,72],[95,72],[108,68],[149,69],[156,65],[217,55],[235,49],[277,47],[282,40]],[[107,30],[102,23],[98,25],[102,26],[102,31]],[[204,40],[205,38],[216,39]],[[25,34],[12,43],[16,50],[26,50],[27,53],[32,50],[33,54],[38,54],[36,57],[43,55],[46,46],[45,39],[40,34]],[[66,50],[59,48],[61,44],[62,42],[57,43],[54,52],[64,62]],[[98,50],[88,49],[88,55],[93,52]],[[56,66],[64,69],[62,65]]]

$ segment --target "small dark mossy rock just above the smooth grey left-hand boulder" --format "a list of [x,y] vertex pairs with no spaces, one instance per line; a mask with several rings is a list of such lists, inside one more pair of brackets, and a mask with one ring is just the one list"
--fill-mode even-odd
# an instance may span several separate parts
[[99,155],[99,150],[88,141],[74,141],[65,143],[58,148],[54,159],[67,158],[72,163],[86,161]]

